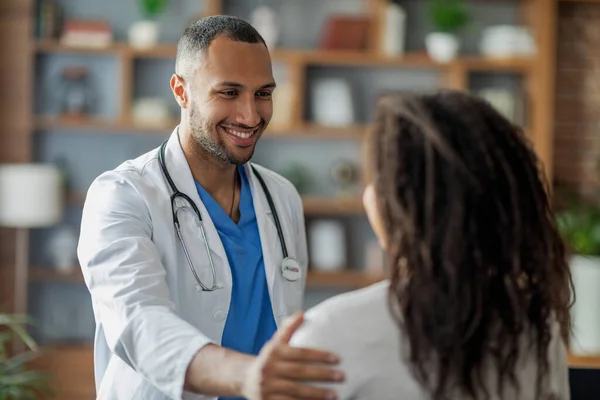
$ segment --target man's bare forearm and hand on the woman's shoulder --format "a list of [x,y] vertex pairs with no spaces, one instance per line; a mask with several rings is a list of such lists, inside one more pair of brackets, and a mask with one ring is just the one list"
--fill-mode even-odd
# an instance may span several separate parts
[[256,357],[211,344],[203,347],[187,370],[186,389],[248,400],[336,399],[335,390],[303,382],[341,382],[344,374],[332,368],[339,362],[333,354],[289,346],[302,322],[302,313],[288,318]]

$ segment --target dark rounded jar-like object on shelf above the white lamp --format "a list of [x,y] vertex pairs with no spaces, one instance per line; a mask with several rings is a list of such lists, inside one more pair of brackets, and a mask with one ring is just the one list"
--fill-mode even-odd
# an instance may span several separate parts
[[59,88],[60,114],[66,118],[81,118],[90,114],[94,94],[85,66],[66,67],[61,72]]

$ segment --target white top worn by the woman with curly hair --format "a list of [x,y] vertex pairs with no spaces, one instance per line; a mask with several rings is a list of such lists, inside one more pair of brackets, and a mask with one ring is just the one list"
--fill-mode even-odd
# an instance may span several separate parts
[[[339,367],[346,374],[342,384],[319,383],[315,386],[336,390],[340,400],[429,400],[411,374],[409,364],[402,361],[401,354],[405,353],[406,347],[401,346],[400,330],[388,311],[388,286],[389,282],[384,281],[344,293],[307,311],[305,323],[292,337],[291,345],[337,353],[341,357]],[[548,349],[550,376],[542,386],[545,395],[553,394],[552,399],[563,400],[570,398],[568,366],[558,324],[555,328]],[[505,385],[507,393],[502,399],[533,400],[537,375],[534,352],[519,358],[517,371],[520,395],[512,386]],[[495,387],[495,372],[489,376],[490,387]],[[491,400],[498,399],[497,395],[490,394]]]

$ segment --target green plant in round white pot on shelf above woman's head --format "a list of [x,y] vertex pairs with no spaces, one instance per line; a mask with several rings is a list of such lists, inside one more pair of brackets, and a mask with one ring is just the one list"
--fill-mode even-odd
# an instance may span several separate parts
[[470,17],[461,0],[429,0],[429,12],[434,31],[425,38],[429,57],[447,63],[458,54],[457,33],[469,23]]

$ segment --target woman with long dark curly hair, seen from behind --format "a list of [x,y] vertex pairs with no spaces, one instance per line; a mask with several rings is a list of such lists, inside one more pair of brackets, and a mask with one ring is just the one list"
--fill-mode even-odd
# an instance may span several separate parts
[[345,357],[343,398],[568,398],[567,252],[522,129],[455,91],[375,111],[363,204],[389,287],[317,307],[296,343]]

